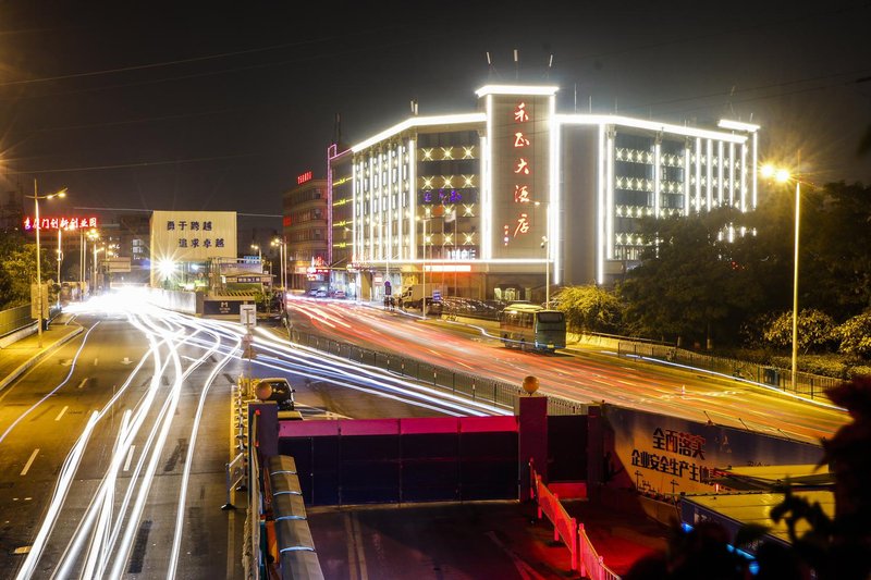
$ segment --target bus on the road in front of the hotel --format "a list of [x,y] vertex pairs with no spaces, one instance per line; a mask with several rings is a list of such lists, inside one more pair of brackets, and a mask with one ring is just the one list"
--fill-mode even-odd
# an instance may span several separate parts
[[506,306],[499,314],[499,332],[506,347],[549,353],[565,348],[565,316],[533,304]]

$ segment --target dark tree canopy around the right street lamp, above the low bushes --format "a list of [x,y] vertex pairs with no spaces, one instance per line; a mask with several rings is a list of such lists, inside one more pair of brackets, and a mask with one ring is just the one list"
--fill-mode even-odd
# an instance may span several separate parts
[[[649,247],[619,288],[626,333],[737,345],[743,326],[792,311],[795,189],[763,193],[756,211],[641,223]],[[871,308],[871,187],[802,185],[799,250],[800,310],[839,324]]]

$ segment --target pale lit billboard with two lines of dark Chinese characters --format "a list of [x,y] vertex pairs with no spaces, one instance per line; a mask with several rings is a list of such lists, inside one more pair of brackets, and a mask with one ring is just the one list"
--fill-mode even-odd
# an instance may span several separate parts
[[155,211],[151,214],[152,260],[206,261],[236,257],[234,211]]

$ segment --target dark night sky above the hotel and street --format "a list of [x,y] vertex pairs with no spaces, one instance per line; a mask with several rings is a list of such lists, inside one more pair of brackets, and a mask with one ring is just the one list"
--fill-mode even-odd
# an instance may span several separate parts
[[3,190],[279,214],[297,174],[323,175],[336,113],[353,144],[413,98],[471,112],[475,89],[516,79],[559,85],[562,112],[752,121],[763,157],[871,183],[869,1],[371,5],[0,3]]

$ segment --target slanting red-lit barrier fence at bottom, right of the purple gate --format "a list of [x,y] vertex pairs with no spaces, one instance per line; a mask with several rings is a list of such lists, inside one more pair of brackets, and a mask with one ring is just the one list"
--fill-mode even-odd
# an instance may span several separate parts
[[531,460],[529,461],[529,498],[535,499],[538,505],[538,519],[545,515],[553,523],[553,541],[562,540],[568,548],[572,554],[572,569],[577,570],[580,567],[580,575],[590,580],[621,580],[619,576],[605,566],[602,556],[596,552],[584,530],[584,525],[578,525],[575,518],[569,517],[560,503],[560,496],[552,493],[542,483],[541,476],[536,473]]

